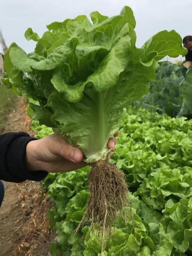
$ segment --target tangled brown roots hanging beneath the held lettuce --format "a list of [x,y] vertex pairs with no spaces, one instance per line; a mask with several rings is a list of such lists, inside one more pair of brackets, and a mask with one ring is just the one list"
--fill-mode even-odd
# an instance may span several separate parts
[[116,226],[116,213],[122,211],[126,220],[124,206],[129,206],[128,188],[125,175],[108,159],[99,160],[91,164],[88,176],[90,191],[86,213],[79,223],[76,232],[84,223],[96,224],[98,232],[102,234],[102,251],[105,234],[111,234],[111,226]]

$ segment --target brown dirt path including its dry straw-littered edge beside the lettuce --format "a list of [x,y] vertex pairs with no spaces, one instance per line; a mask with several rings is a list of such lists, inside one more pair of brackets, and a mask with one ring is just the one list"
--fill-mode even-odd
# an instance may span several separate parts
[[[5,125],[0,130],[0,133],[31,133],[30,118],[26,116],[26,104],[22,97],[12,103],[5,118]],[[49,244],[54,239],[46,219],[50,202],[46,195],[40,202],[39,183],[25,181],[17,184],[3,181],[3,184],[5,198],[0,208],[0,256],[49,255]],[[38,217],[43,225],[38,223],[39,220],[35,220]]]

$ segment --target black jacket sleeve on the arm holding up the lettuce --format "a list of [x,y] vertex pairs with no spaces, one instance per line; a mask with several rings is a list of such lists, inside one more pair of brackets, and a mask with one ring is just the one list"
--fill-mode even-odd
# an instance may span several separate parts
[[31,172],[25,166],[26,145],[31,140],[36,139],[24,132],[0,135],[0,180],[19,183],[46,177],[46,171]]

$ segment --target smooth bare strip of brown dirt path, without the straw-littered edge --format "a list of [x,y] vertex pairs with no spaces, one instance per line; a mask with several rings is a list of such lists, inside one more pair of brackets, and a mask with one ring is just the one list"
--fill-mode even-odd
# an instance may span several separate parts
[[[10,111],[5,118],[5,125],[1,127],[2,132],[23,131],[25,110],[23,109],[22,98],[14,101],[10,106]],[[0,208],[0,255],[14,255],[13,248],[17,242],[17,227],[21,219],[21,212],[18,207],[19,188],[16,183],[7,183],[5,185],[5,198]]]

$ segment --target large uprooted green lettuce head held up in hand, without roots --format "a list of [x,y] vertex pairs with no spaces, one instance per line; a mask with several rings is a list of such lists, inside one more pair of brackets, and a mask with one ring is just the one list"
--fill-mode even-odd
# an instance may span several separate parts
[[155,80],[157,61],[187,50],[174,30],[136,48],[136,22],[127,6],[110,18],[99,12],[90,17],[91,22],[85,15],[53,22],[41,38],[28,28],[25,37],[37,42],[35,51],[26,54],[12,43],[3,83],[38,100],[28,109],[31,118],[57,128],[87,161],[97,161],[106,156],[125,109]]

